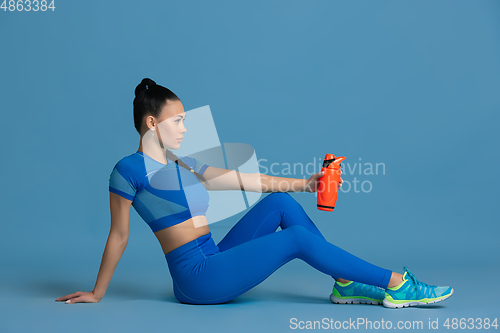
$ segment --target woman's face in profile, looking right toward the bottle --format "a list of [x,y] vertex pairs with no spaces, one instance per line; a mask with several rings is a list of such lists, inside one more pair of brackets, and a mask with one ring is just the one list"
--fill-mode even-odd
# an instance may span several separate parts
[[184,127],[184,106],[180,101],[167,101],[162,109],[160,119],[156,126],[158,139],[163,143],[165,149],[179,149],[187,131]]

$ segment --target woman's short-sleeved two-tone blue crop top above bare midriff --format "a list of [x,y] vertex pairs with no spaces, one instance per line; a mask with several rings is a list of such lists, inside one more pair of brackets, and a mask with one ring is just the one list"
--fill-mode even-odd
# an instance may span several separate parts
[[[178,157],[200,175],[208,168],[193,157]],[[109,191],[131,200],[153,232],[208,210],[208,192],[196,175],[170,159],[167,162],[137,151],[118,161],[109,177]]]

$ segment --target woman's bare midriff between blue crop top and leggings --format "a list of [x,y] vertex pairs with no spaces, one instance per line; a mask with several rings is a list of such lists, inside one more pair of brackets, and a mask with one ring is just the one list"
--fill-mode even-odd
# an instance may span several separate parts
[[164,254],[210,232],[206,216],[198,215],[155,232]]

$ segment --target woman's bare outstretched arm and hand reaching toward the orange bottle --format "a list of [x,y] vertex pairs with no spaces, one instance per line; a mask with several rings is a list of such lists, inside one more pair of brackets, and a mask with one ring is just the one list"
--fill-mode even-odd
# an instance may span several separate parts
[[[260,173],[242,173],[208,167],[203,173],[204,185],[209,191],[241,190],[247,192],[316,192],[317,179],[321,172],[313,174],[309,179],[268,176]],[[342,186],[342,178],[339,187]]]

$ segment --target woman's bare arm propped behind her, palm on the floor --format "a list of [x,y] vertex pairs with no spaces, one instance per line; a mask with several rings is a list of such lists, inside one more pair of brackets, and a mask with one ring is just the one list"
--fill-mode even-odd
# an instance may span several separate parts
[[106,247],[102,255],[101,267],[97,274],[94,290],[89,292],[78,291],[74,294],[59,297],[56,301],[67,301],[67,303],[99,302],[106,293],[109,282],[125,251],[128,243],[130,207],[132,201],[118,194],[109,192],[109,204],[111,211],[111,227]]

